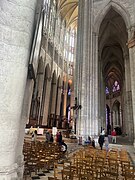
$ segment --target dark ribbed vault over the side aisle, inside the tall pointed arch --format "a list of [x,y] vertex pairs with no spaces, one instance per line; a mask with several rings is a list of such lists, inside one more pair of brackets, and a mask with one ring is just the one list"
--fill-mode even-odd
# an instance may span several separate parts
[[101,23],[99,31],[99,52],[105,85],[112,89],[115,81],[123,87],[124,58],[127,32],[124,20],[112,9]]

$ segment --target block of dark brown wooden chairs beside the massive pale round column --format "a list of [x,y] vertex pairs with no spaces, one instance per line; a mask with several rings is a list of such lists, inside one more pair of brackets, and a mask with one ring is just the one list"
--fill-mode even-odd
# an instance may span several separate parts
[[54,161],[62,156],[61,147],[57,143],[24,142],[24,176],[32,172],[49,171],[54,166]]

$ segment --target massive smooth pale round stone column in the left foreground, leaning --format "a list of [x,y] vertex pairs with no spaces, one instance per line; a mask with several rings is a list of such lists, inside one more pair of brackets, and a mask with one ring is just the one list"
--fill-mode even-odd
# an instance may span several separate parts
[[[18,137],[36,0],[0,1],[0,179],[20,179]],[[22,129],[23,128],[23,129]],[[21,146],[22,148],[22,146]],[[20,156],[20,157],[19,157]]]

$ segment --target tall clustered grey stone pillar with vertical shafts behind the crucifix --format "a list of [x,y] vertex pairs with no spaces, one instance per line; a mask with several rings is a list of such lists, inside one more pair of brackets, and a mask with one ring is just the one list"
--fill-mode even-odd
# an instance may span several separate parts
[[76,94],[82,105],[78,134],[98,134],[98,36],[93,33],[93,1],[79,1]]

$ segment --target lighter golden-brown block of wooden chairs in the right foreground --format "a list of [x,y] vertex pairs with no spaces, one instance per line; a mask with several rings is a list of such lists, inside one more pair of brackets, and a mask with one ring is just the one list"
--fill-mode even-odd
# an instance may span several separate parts
[[[125,151],[125,153],[127,153]],[[54,168],[54,179],[62,180],[125,180],[135,179],[135,170],[131,166],[128,156],[123,160],[123,152],[112,149],[108,153],[104,150],[84,148],[70,157],[68,166],[64,162],[57,176],[57,167]],[[123,154],[124,156],[124,154]]]

